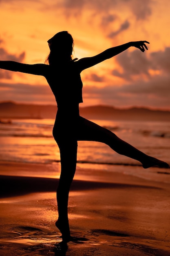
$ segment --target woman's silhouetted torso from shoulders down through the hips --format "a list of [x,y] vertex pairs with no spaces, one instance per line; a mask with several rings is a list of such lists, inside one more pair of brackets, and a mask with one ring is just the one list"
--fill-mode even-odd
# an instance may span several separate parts
[[77,63],[71,61],[49,66],[46,74],[57,102],[53,136],[59,141],[75,138],[79,123],[79,103],[82,102],[82,80]]

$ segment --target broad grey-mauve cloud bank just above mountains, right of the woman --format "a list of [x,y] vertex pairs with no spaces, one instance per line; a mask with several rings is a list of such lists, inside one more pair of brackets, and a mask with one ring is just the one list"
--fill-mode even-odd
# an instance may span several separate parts
[[170,78],[155,77],[152,81],[140,80],[129,85],[107,85],[102,88],[83,88],[84,100],[99,99],[100,104],[116,107],[145,106],[170,109]]

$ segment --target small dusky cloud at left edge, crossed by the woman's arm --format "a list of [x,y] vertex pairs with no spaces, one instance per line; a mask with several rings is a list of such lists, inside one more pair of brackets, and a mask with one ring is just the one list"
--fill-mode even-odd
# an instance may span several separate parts
[[[22,62],[25,58],[25,52],[20,53],[19,55],[9,54],[4,48],[0,47],[0,60],[1,61],[16,61]],[[13,72],[8,70],[0,69],[0,79],[11,79]]]

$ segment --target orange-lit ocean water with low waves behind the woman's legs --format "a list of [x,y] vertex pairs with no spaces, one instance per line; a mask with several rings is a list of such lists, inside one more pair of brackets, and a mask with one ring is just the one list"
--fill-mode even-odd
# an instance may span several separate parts
[[[91,120],[113,131],[144,153],[170,164],[170,122]],[[58,177],[60,153],[53,139],[53,119],[12,119],[0,122],[0,161],[50,164],[51,173],[24,173]],[[69,126],[68,126],[69,129]],[[117,154],[109,146],[92,141],[78,141],[77,169],[117,171],[170,182],[170,169],[143,169],[134,159]],[[15,173],[14,173],[15,175]],[[97,175],[97,173],[95,173]],[[88,179],[88,177],[87,177]]]

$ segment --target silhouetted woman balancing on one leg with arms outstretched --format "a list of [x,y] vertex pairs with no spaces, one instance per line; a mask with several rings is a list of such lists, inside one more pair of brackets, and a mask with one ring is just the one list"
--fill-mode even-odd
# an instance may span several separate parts
[[73,38],[62,31],[48,40],[49,65],[27,65],[14,61],[0,61],[0,68],[29,74],[42,75],[49,83],[57,101],[57,115],[53,136],[60,148],[61,175],[57,188],[58,220],[55,225],[62,233],[64,242],[71,240],[68,223],[68,193],[73,180],[77,162],[77,141],[100,141],[121,155],[141,162],[144,168],[151,166],[168,167],[166,162],[150,157],[130,144],[119,139],[113,132],[79,116],[79,103],[82,100],[82,80],[80,73],[111,58],[129,47],[137,47],[144,52],[147,41],[130,42],[89,58],[72,60]]

